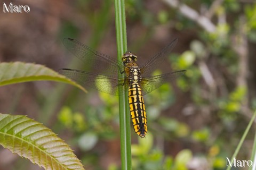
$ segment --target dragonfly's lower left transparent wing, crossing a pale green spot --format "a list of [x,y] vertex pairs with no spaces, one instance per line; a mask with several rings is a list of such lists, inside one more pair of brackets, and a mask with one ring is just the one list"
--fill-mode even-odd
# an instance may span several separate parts
[[127,87],[124,79],[118,79],[117,77],[110,77],[108,75],[94,74],[74,69],[61,69],[60,73],[81,84],[83,87],[91,87],[110,95],[123,95],[118,94],[118,86],[124,85]]

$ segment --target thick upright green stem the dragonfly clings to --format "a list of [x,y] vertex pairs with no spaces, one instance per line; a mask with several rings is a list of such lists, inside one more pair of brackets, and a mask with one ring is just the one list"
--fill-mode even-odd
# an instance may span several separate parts
[[[115,0],[115,20],[116,20],[116,41],[118,61],[122,62],[122,55],[127,50],[125,7],[124,0]],[[119,74],[119,77],[124,75]],[[119,88],[119,115],[120,115],[120,137],[121,137],[121,161],[122,169],[132,169],[131,160],[131,129],[130,113],[128,106],[127,89]]]

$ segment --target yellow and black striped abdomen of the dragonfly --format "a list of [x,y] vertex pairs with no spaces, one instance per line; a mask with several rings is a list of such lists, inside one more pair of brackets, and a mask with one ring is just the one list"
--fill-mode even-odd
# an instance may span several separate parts
[[144,138],[148,132],[147,116],[141,88],[138,82],[133,82],[129,87],[129,106],[135,133]]

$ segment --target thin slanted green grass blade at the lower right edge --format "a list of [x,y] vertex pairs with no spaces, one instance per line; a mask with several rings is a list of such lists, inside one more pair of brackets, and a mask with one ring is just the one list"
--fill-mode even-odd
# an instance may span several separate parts
[[[234,152],[232,158],[230,159],[230,160],[231,160],[231,164],[233,164],[233,159],[236,158],[236,156],[237,156],[237,154],[238,154],[238,151],[241,149],[241,146],[242,146],[242,144],[243,144],[243,142],[244,142],[244,139],[246,138],[246,135],[248,134],[248,132],[249,132],[251,126],[252,126],[252,123],[253,123],[253,121],[255,120],[255,117],[256,117],[256,111],[253,113],[253,116],[252,116],[252,118],[251,118],[249,124],[247,125],[247,128],[245,129],[244,134],[243,134],[241,140],[239,141],[239,143],[238,143],[238,145],[237,145],[237,147],[236,147],[236,150],[235,150],[235,152]],[[254,149],[255,149],[255,142],[256,142],[256,141],[255,141],[255,139],[254,139],[254,144],[253,144],[253,148],[254,148]],[[253,153],[255,153],[255,150],[252,151],[252,154],[253,154]],[[255,154],[254,154],[254,155],[255,155]],[[255,164],[255,162],[254,162],[254,156],[252,156],[252,157],[253,157],[253,158],[252,158],[251,160],[253,161],[253,164]],[[230,170],[230,168],[231,168],[231,166],[228,166],[227,170]]]

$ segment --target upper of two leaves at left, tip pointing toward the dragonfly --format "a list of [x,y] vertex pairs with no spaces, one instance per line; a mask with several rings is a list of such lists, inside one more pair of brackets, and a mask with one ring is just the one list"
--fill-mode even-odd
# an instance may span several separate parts
[[39,80],[68,83],[87,92],[76,82],[40,64],[22,62],[0,63],[0,86]]

